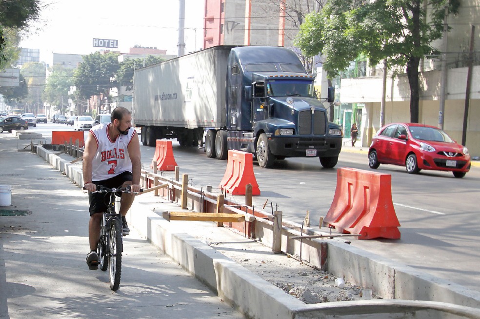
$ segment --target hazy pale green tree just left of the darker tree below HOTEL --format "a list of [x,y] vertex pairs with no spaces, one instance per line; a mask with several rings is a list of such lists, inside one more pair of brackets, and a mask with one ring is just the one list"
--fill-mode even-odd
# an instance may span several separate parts
[[50,105],[60,105],[68,100],[68,91],[73,86],[73,70],[54,65],[45,83],[42,98]]

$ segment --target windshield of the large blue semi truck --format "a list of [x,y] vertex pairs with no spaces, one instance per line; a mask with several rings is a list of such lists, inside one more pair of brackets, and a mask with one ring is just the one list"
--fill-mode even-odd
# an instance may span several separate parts
[[267,83],[267,95],[270,97],[316,97],[313,81],[304,80],[270,80]]

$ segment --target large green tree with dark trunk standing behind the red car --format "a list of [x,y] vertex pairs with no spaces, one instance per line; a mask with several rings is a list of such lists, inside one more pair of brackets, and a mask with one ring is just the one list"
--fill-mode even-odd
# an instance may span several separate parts
[[329,77],[337,76],[360,54],[371,65],[387,59],[406,67],[410,121],[419,121],[419,64],[437,54],[432,41],[442,36],[445,8],[457,13],[459,0],[331,0],[300,26],[296,44],[306,55],[325,55]]

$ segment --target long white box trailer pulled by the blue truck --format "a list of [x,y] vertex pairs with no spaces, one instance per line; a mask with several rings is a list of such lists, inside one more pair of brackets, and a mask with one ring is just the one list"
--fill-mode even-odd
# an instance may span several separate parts
[[225,126],[230,50],[213,47],[135,70],[132,115],[143,145],[163,138],[198,145],[204,128]]

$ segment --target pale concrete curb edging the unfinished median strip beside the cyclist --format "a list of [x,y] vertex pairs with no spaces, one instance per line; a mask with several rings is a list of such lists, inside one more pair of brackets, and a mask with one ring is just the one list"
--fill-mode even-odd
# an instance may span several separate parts
[[[65,170],[66,175],[82,185],[81,167],[73,165],[66,160],[51,154],[41,146],[37,152],[43,159],[51,163],[56,169]],[[373,278],[377,278],[380,269],[377,266],[386,267],[388,271],[381,270],[387,277],[393,275],[395,283],[409,287],[413,295],[421,299],[430,297],[451,300],[463,305],[440,301],[412,301],[402,299],[386,300],[359,300],[341,301],[321,304],[304,304],[300,300],[284,293],[280,288],[275,287],[259,276],[253,274],[246,268],[233,260],[223,256],[212,247],[200,242],[188,234],[182,233],[172,223],[161,218],[154,211],[146,208],[145,204],[152,204],[155,199],[152,194],[144,195],[136,200],[132,206],[135,214],[128,214],[129,224],[136,228],[143,236],[149,239],[161,251],[164,251],[172,259],[194,275],[197,279],[217,292],[220,298],[236,307],[241,313],[249,318],[472,318],[480,319],[480,309],[464,306],[468,304],[473,307],[479,306],[479,296],[471,296],[471,291],[464,292],[470,295],[468,299],[460,294],[460,291],[452,291],[452,283],[445,280],[431,278],[423,273],[415,272],[410,267],[393,267],[388,262],[370,259],[362,256],[360,250],[349,247],[343,249],[341,242],[329,244],[329,254],[335,265],[330,267],[344,267],[351,265],[358,268],[359,272],[374,272]],[[173,203],[160,203],[162,210],[176,210],[178,205]],[[355,258],[355,255],[358,255]],[[362,261],[363,260],[363,261]],[[375,263],[369,266],[369,263]],[[379,264],[379,265],[377,265]],[[393,271],[392,273],[389,273]],[[413,271],[413,273],[412,273]],[[335,271],[334,271],[335,272]],[[361,276],[360,276],[361,277]],[[382,278],[378,280],[382,281]],[[391,281],[385,278],[386,281]],[[381,282],[380,282],[381,284]],[[453,285],[454,289],[461,287]],[[418,287],[429,287],[420,289]],[[450,287],[450,288],[449,288]],[[405,289],[404,291],[407,291]],[[418,294],[418,296],[417,296]],[[395,296],[401,298],[406,296]],[[463,297],[463,298],[462,298]]]

